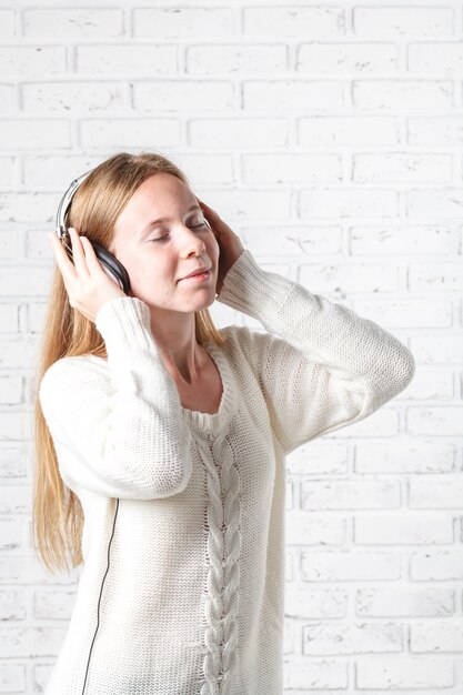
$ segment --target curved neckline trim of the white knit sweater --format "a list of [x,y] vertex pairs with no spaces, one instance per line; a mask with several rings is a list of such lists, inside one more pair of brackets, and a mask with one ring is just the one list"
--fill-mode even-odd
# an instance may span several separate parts
[[203,348],[215,363],[222,380],[222,397],[220,400],[219,410],[215,413],[202,413],[201,411],[192,411],[181,404],[180,409],[190,427],[205,434],[212,434],[221,430],[233,415],[236,410],[238,400],[234,380],[223,351],[213,341],[204,342]]

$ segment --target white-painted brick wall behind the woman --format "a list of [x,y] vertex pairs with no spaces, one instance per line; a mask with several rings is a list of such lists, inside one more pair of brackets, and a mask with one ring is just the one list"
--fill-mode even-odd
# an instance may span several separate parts
[[461,2],[76,4],[0,7],[0,694],[44,688],[79,578],[31,545],[44,232],[76,175],[153,149],[264,268],[417,362],[393,402],[288,460],[284,691],[461,695]]

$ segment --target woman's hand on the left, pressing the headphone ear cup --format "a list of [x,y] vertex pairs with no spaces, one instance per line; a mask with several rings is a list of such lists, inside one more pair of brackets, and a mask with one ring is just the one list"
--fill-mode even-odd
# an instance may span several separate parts
[[69,295],[69,303],[94,323],[95,316],[105,302],[117,296],[127,296],[115,280],[103,270],[93,246],[87,236],[79,236],[71,226],[69,235],[72,245],[73,263],[56,232],[50,232],[54,258],[61,271]]

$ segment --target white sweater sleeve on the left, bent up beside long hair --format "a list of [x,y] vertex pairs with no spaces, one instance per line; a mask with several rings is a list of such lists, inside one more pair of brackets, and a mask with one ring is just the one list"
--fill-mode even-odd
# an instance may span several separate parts
[[63,481],[111,497],[181,492],[192,471],[191,433],[151,332],[149,306],[115,298],[95,326],[107,362],[66,356],[44,373],[40,404]]

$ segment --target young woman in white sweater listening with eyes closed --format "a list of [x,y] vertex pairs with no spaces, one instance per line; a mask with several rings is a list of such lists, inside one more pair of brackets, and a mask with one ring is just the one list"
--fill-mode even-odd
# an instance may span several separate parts
[[[72,261],[51,235],[33,523],[47,566],[70,551],[82,572],[46,693],[281,695],[285,456],[393,399],[413,356],[264,271],[159,154],[102,162],[67,223]],[[217,330],[215,299],[265,331]]]

